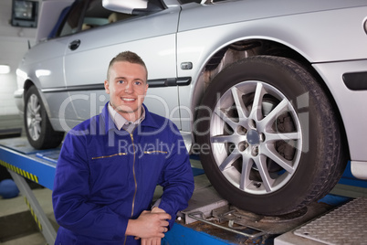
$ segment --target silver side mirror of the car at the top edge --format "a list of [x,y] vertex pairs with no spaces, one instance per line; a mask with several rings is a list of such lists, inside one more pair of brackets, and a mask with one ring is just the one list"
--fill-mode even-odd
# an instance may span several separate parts
[[129,15],[142,15],[163,10],[163,5],[155,4],[159,1],[152,2],[154,3],[149,0],[103,0],[102,5],[111,11]]

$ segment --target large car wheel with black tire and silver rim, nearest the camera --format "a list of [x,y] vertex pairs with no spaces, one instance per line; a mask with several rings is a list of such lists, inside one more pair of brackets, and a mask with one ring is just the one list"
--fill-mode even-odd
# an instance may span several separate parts
[[237,208],[298,211],[329,193],[347,164],[328,97],[291,59],[228,66],[205,91],[197,118],[205,174]]

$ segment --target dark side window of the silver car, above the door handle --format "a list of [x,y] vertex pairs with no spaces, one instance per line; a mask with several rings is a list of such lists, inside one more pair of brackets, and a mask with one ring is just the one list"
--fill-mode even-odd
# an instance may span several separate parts
[[101,0],[77,0],[72,5],[58,37],[109,25],[131,16],[133,15],[115,13],[104,8]]

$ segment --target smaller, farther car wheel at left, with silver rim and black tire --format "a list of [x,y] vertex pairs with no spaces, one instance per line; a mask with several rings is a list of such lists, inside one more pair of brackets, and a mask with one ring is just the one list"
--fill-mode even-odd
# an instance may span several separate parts
[[36,149],[58,147],[64,132],[54,131],[48,120],[45,106],[35,86],[26,91],[24,122],[29,144]]

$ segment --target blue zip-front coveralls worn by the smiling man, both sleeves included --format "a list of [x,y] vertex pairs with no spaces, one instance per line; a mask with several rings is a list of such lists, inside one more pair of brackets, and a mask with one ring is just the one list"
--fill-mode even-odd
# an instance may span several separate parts
[[145,108],[130,134],[102,112],[70,131],[58,158],[53,188],[60,225],[55,244],[140,244],[125,237],[128,220],[150,209],[156,185],[159,208],[172,216],[187,207],[194,177],[176,126]]

